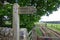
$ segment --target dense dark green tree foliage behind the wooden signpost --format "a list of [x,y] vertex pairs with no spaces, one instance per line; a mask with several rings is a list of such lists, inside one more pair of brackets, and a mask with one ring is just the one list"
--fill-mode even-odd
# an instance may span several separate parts
[[[10,4],[15,3],[15,0],[6,0]],[[4,0],[0,1],[0,4],[3,4]],[[10,18],[12,13],[13,5],[0,5],[0,15],[7,15]],[[20,15],[20,26],[26,27],[29,30],[34,26],[34,22],[39,21],[40,17],[44,14],[52,13],[52,11],[56,11],[60,6],[60,0],[18,0],[18,4],[20,6],[34,6],[37,9],[35,14],[21,14]],[[4,9],[4,11],[3,11]],[[11,19],[10,19],[11,20]]]

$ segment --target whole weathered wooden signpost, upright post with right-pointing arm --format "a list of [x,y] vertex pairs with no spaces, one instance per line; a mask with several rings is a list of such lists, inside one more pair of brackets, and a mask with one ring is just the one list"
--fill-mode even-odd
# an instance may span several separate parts
[[15,3],[13,5],[13,31],[14,31],[13,40],[20,40],[19,14],[33,14],[35,12],[36,12],[36,8],[34,8],[33,6],[19,7],[18,3]]

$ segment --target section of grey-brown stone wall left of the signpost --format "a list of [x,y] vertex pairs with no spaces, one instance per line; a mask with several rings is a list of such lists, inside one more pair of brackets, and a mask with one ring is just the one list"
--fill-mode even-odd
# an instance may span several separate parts
[[13,40],[12,28],[0,27],[0,40]]

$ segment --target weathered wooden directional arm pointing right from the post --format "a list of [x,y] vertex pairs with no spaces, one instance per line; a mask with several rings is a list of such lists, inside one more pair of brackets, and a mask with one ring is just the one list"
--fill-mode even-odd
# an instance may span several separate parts
[[33,14],[36,12],[36,8],[33,6],[19,7],[19,14]]

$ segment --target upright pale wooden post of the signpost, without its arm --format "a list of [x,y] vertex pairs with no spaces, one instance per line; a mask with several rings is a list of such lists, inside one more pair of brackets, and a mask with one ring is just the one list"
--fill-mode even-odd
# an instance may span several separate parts
[[13,31],[14,37],[13,40],[19,40],[19,15],[18,15],[19,5],[14,3],[13,5]]

